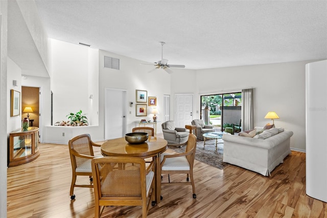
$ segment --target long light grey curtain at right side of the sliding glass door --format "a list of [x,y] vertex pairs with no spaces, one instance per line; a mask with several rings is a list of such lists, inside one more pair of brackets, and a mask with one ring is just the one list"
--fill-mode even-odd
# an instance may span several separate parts
[[242,90],[242,131],[254,128],[254,88]]

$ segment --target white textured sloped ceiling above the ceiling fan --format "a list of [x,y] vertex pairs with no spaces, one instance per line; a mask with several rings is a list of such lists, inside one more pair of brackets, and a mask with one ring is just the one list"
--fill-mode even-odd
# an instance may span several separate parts
[[50,38],[187,69],[327,58],[327,1],[36,0]]

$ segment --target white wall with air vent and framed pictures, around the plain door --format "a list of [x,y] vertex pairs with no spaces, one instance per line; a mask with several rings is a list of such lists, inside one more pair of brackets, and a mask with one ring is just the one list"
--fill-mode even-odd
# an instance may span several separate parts
[[[119,58],[120,70],[104,68],[104,56]],[[161,69],[157,69],[149,73],[149,71],[154,69],[154,66],[141,65],[141,63],[145,62],[103,50],[100,50],[99,62],[99,126],[104,126],[103,121],[105,88],[127,90],[127,105],[129,112],[127,115],[127,132],[131,132],[132,128],[136,126],[134,121],[140,121],[141,119],[152,120],[153,117],[153,115],[150,115],[151,109],[149,106],[147,117],[135,116],[136,90],[146,90],[148,92],[148,97],[157,97],[156,107],[159,113],[163,112],[164,94],[170,95],[170,74]],[[133,107],[129,107],[129,102],[133,102]],[[157,121],[162,122],[162,120],[164,120],[164,117],[160,116],[159,114]],[[157,127],[157,133],[160,133],[161,125],[158,124]]]

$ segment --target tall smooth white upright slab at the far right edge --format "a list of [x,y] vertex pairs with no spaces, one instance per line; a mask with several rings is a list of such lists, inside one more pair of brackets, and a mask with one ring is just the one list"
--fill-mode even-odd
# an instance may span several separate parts
[[327,202],[327,60],[306,64],[306,188]]

